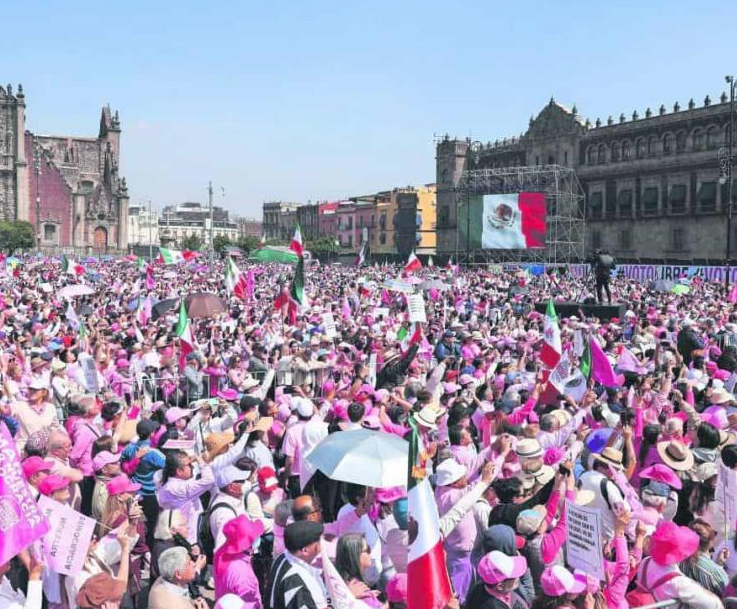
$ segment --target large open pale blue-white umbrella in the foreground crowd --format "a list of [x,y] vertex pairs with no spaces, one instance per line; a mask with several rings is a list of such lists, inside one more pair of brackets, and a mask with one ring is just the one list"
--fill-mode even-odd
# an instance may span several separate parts
[[330,434],[306,456],[328,478],[374,488],[406,486],[409,443],[394,434],[353,429]]

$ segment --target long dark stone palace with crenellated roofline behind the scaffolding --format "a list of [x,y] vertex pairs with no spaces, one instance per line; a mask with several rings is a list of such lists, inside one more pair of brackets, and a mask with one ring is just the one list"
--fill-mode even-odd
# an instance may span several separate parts
[[[436,148],[438,253],[456,245],[464,170],[562,165],[581,184],[587,250],[606,248],[629,261],[722,264],[728,197],[718,151],[729,142],[729,109],[722,94],[718,103],[707,96],[698,106],[691,100],[592,123],[551,99],[520,136],[473,152],[470,140],[446,136]],[[737,218],[732,230],[737,252]]]

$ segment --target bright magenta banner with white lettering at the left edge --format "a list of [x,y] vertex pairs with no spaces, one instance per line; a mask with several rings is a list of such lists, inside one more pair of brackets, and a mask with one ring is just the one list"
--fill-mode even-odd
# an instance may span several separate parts
[[0,565],[48,530],[49,524],[23,477],[13,437],[0,422]]

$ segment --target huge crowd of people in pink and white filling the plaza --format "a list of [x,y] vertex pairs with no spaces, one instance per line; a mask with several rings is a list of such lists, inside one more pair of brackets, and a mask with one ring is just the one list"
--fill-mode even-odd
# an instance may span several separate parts
[[[437,609],[734,602],[737,311],[723,286],[617,277],[621,318],[556,319],[535,303],[593,286],[311,261],[295,311],[275,305],[292,268],[239,264],[237,296],[224,263],[202,259],[5,267],[0,428],[34,497],[95,531],[77,573],[44,564],[42,540],[1,565],[0,608],[430,609],[408,599],[423,522],[406,486],[310,462],[355,429],[419,433],[411,469],[434,490],[445,571],[433,577],[451,591]],[[92,293],[60,296],[70,285]],[[409,290],[424,323],[410,321]],[[225,310],[190,316],[190,349],[179,301],[201,292]],[[572,564],[566,506],[598,514],[602,577]],[[331,597],[333,566],[355,601]]]

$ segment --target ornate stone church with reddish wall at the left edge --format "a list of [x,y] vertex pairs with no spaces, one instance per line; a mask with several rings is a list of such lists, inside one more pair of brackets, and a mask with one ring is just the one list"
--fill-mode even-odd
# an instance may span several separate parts
[[119,175],[120,120],[102,109],[96,137],[25,128],[22,86],[0,87],[0,220],[27,220],[43,248],[128,247],[128,189]]

